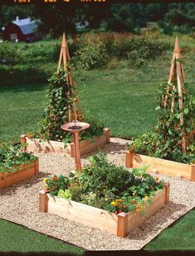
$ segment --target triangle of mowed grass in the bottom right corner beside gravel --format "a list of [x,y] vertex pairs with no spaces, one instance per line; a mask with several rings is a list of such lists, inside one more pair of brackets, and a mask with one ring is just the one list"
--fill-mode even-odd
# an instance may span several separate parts
[[144,250],[195,250],[195,209],[164,229]]

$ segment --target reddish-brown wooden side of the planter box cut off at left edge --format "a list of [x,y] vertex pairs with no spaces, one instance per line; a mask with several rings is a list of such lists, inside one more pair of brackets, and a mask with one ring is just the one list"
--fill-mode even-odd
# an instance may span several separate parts
[[19,183],[37,173],[39,173],[38,158],[29,165],[22,165],[21,168],[14,173],[0,173],[0,188],[6,188],[12,184]]

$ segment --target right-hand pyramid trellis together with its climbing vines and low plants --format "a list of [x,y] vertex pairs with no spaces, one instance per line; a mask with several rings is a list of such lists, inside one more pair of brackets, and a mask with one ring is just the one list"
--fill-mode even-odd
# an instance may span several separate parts
[[182,163],[195,161],[193,139],[195,98],[188,92],[183,63],[175,40],[168,83],[158,89],[158,125],[129,145],[129,151]]

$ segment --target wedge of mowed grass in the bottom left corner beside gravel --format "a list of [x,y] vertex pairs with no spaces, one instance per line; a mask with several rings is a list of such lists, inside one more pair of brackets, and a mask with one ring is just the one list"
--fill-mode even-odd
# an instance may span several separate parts
[[55,252],[82,255],[84,249],[0,219],[0,252]]

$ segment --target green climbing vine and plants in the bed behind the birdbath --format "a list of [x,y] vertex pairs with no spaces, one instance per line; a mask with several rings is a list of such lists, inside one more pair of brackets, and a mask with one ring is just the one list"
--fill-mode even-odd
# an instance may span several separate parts
[[[46,140],[63,141],[71,143],[72,134],[61,129],[61,125],[66,123],[66,113],[74,99],[71,93],[71,85],[66,81],[67,73],[60,71],[55,73],[49,80],[49,88],[47,90],[47,103],[43,119],[41,120],[41,128],[35,133],[27,133],[28,138],[41,138]],[[90,113],[83,114],[83,120],[90,123],[90,128],[80,133],[80,139],[92,139],[93,136],[103,134],[103,123],[100,123]]]

